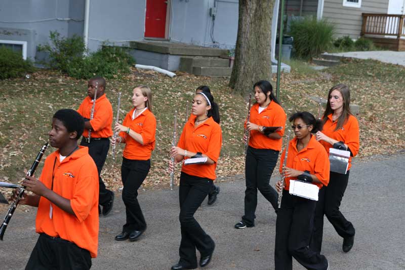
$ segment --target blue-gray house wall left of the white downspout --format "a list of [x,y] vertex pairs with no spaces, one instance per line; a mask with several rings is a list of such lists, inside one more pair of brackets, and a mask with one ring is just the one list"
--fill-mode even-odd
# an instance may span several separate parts
[[49,32],[83,35],[83,0],[0,0],[0,40],[26,41],[27,56],[49,41]]

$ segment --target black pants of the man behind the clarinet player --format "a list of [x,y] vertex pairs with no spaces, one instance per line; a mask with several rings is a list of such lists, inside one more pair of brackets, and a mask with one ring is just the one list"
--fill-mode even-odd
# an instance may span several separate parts
[[110,148],[110,140],[108,138],[101,138],[100,140],[90,139],[90,143],[88,143],[85,138],[82,138],[80,145],[89,147],[89,155],[97,166],[99,182],[98,204],[105,206],[110,202],[111,196],[114,196],[112,191],[105,187],[103,179],[100,177],[105,159],[107,158],[108,149]]

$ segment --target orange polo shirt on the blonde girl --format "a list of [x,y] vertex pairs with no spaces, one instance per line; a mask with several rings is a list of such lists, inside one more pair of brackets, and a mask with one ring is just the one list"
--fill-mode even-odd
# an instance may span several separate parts
[[143,145],[133,139],[125,132],[120,132],[119,136],[125,138],[124,158],[129,160],[149,160],[155,148],[156,119],[149,109],[145,109],[137,118],[132,120],[135,108],[127,113],[123,125],[129,127],[136,133],[141,134]]

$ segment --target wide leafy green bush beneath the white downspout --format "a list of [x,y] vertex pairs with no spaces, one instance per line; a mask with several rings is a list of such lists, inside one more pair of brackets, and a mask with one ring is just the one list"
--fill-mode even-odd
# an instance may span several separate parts
[[135,60],[126,49],[107,46],[103,43],[100,50],[84,56],[86,49],[82,37],[60,37],[58,32],[51,32],[51,45],[40,46],[39,50],[49,53],[52,68],[60,70],[76,79],[90,79],[103,76],[106,79],[120,79],[128,74]]

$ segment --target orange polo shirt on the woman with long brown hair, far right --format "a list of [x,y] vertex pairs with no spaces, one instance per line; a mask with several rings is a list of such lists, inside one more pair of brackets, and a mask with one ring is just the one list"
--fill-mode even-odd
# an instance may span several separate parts
[[[335,131],[337,124],[338,121],[332,121],[332,113],[329,114],[328,120],[325,122],[325,125],[323,125],[322,133],[337,141],[343,141],[345,144],[347,144],[347,146],[349,146],[353,157],[355,157],[360,147],[360,132],[357,119],[353,115],[349,115],[349,119],[343,124],[343,126]],[[323,145],[323,147],[325,147],[326,151],[329,154],[329,148],[333,147],[333,145],[326,141],[319,142]],[[352,157],[350,156],[349,167],[347,168],[347,170],[350,170],[351,159]]]

